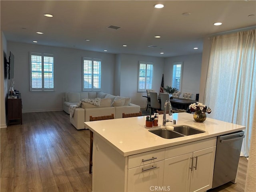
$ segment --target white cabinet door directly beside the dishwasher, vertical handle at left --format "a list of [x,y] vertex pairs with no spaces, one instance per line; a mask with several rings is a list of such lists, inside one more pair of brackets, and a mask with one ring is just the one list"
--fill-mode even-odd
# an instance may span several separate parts
[[212,188],[216,146],[193,152],[193,170],[190,191],[206,191]]

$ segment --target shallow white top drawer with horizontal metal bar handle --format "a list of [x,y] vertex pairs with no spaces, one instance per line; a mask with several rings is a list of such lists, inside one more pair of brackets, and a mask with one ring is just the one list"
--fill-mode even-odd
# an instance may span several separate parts
[[144,152],[128,157],[128,169],[150,164],[164,159],[165,149]]

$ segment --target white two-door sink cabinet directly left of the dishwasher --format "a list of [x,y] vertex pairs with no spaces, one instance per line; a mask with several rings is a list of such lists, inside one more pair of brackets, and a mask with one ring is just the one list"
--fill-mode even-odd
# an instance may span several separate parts
[[[164,160],[163,186],[173,192],[199,192],[212,187],[215,140],[203,140],[184,144],[180,148],[170,147]],[[194,151],[196,150],[196,151]],[[186,154],[181,154],[182,151]],[[188,152],[188,153],[187,153]]]

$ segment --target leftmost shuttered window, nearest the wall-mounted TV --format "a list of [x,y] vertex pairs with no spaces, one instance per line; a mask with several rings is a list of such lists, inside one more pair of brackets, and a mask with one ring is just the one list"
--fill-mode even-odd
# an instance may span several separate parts
[[30,53],[30,91],[54,91],[54,56]]

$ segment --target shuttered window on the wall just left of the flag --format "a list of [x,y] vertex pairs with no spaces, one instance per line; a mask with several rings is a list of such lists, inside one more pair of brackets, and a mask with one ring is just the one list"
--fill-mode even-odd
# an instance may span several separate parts
[[144,92],[146,89],[152,89],[153,63],[139,62],[138,72],[138,92]]

